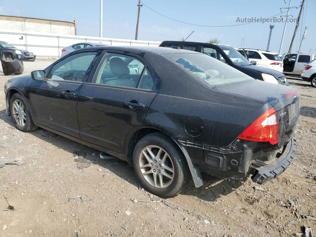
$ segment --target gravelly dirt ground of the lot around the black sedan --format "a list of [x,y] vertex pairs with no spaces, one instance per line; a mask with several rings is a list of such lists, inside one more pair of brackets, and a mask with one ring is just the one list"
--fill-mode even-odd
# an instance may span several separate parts
[[[24,74],[51,63],[25,62]],[[97,150],[44,129],[18,131],[5,112],[3,87],[12,77],[0,71],[0,158],[25,163],[0,168],[1,237],[275,237],[302,233],[303,226],[316,234],[316,220],[306,218],[316,217],[316,186],[289,181],[316,184],[305,178],[316,175],[316,89],[310,83],[288,77],[301,93],[295,159],[262,185],[263,191],[255,190],[250,178],[220,180],[203,174],[202,187],[191,181],[176,197],[161,199],[140,186],[124,161],[100,159]],[[76,151],[87,153],[92,165],[78,169]],[[15,210],[7,209],[4,196]],[[76,196],[90,201],[69,202]]]

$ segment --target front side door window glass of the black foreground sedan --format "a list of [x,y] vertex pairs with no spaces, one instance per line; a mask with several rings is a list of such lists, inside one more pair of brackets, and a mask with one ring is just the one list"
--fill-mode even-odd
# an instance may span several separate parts
[[48,79],[82,82],[97,52],[71,55],[52,67]]

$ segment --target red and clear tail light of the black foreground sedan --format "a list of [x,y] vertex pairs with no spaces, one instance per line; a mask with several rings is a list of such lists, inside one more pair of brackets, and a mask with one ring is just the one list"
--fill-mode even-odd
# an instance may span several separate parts
[[272,107],[249,125],[238,138],[256,142],[269,142],[274,145],[278,142],[278,130],[276,110]]

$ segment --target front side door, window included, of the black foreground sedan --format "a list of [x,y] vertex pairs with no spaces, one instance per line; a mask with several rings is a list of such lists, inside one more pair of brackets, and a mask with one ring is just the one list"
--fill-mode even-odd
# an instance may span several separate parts
[[38,124],[80,138],[77,98],[98,53],[85,51],[65,57],[50,67],[44,81],[33,81],[30,99]]

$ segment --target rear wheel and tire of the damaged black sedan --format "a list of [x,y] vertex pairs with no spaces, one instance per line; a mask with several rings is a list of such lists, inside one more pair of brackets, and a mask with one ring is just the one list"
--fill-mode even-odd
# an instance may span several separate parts
[[[154,156],[150,155],[147,148]],[[159,151],[160,155],[157,154]],[[133,166],[146,190],[159,197],[173,197],[190,181],[191,173],[183,153],[171,138],[161,133],[151,133],[138,141],[133,152]]]

